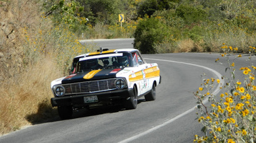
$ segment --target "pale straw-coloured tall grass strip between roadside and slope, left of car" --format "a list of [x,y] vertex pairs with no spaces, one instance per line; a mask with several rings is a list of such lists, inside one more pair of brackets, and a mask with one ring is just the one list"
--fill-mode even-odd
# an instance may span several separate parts
[[[1,85],[0,134],[18,130],[30,122],[53,115],[49,83],[61,75],[54,67],[55,62],[45,57],[29,67],[26,73],[20,73]],[[39,109],[42,105],[45,107]]]

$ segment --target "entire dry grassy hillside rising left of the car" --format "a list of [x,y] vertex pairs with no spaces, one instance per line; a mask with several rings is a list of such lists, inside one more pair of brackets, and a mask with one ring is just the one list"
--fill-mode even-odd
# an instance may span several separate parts
[[55,116],[51,81],[63,77],[72,57],[94,48],[41,17],[38,2],[0,3],[0,135]]

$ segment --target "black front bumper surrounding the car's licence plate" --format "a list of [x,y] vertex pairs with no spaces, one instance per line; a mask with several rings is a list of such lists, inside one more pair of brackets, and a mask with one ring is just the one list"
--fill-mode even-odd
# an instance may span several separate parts
[[[105,91],[99,93],[82,94],[82,95],[68,95],[64,97],[53,97],[51,98],[51,105],[56,106],[67,106],[72,105],[73,107],[84,107],[90,105],[108,105],[111,103],[118,103],[122,99],[127,99],[132,95],[132,89],[121,89],[115,91]],[[97,103],[84,103],[84,97],[97,95]]]

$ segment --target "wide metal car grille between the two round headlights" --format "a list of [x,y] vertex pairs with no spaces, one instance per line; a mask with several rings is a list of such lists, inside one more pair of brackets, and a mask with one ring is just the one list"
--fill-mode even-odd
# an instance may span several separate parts
[[101,81],[86,81],[82,83],[72,83],[62,85],[66,90],[66,95],[78,93],[96,93],[100,91],[110,91],[116,89],[116,79],[107,79]]

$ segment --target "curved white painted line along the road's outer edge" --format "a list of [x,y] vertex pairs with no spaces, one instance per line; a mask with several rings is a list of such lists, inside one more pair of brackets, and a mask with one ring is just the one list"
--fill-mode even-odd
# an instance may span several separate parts
[[[175,62],[175,63],[180,63],[180,64],[188,64],[190,66],[197,66],[197,67],[200,67],[200,68],[205,68],[209,71],[211,71],[212,73],[214,73],[217,77],[217,79],[220,79],[220,84],[217,85],[217,88],[213,91],[213,95],[217,95],[217,93],[220,92],[220,87],[221,85],[224,85],[224,79],[222,79],[222,75],[220,73],[218,73],[216,70],[213,70],[211,68],[208,68],[206,66],[200,66],[198,64],[190,64],[190,63],[186,63],[186,62],[177,62],[177,61],[174,61],[174,60],[161,60],[161,59],[155,59],[155,58],[144,58],[144,59],[147,59],[147,60],[159,60],[159,61],[164,61],[164,62]],[[208,99],[206,98],[203,103],[207,103],[208,102]],[[140,134],[136,134],[135,136],[132,136],[130,138],[126,138],[125,140],[122,140],[118,143],[126,143],[126,142],[131,142],[132,140],[136,140],[137,138],[140,138],[141,136],[144,136],[146,134],[149,134],[155,130],[158,130],[159,128],[167,125],[167,124],[170,124],[172,122],[174,122],[175,120],[178,120],[180,117],[183,117],[184,115],[190,113],[191,111],[195,110],[197,107],[197,105],[195,105],[195,107],[192,107],[191,109],[188,109],[188,111],[185,111],[184,113],[181,113],[180,115],[177,115],[176,117],[170,119],[170,120],[166,120],[165,122],[157,125],[157,126],[154,126],[152,128],[150,128],[149,130],[145,130],[144,132],[141,132]]]

